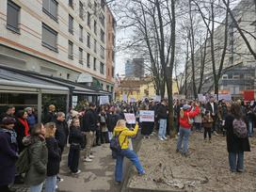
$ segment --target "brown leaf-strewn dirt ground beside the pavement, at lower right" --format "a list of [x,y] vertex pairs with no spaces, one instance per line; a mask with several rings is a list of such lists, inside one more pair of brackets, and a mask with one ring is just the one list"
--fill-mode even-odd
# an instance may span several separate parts
[[143,139],[138,156],[146,175],[136,171],[128,187],[151,190],[182,191],[256,191],[256,138],[250,139],[251,152],[245,153],[245,172],[229,170],[226,138],[214,136],[212,143],[204,142],[201,133],[189,138],[188,157],[176,153],[175,138],[159,141],[156,137]]

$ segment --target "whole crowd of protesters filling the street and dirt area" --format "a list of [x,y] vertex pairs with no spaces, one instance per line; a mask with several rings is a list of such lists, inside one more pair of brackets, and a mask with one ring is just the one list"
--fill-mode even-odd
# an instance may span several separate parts
[[[154,122],[139,122],[140,110],[154,111]],[[176,152],[189,155],[188,142],[192,130],[204,132],[202,136],[205,142],[208,142],[207,136],[211,142],[212,134],[220,134],[227,136],[231,171],[244,171],[244,152],[250,151],[248,136],[253,136],[256,121],[255,102],[216,102],[214,97],[210,97],[209,102],[175,100],[173,112],[173,126],[178,139]],[[124,113],[135,114],[136,124],[127,124]],[[7,192],[11,191],[8,185],[13,182],[28,184],[31,192],[40,192],[43,184],[46,192],[56,191],[57,183],[63,181],[58,177],[58,172],[67,144],[70,145],[67,166],[71,174],[76,175],[81,172],[80,152],[85,150],[83,161],[92,162],[97,158],[92,154],[92,148],[111,142],[115,136],[119,139],[120,152],[112,152],[112,156],[117,159],[115,180],[120,184],[123,157],[132,161],[139,175],[145,174],[132,148],[132,138],[137,135],[139,127],[145,139],[156,135],[159,142],[162,142],[170,135],[168,102],[165,99],[161,102],[145,99],[132,104],[90,103],[81,111],[71,109],[67,115],[61,111],[56,112],[56,106],[51,104],[43,123],[38,123],[37,114],[32,107],[16,112],[14,106],[8,106],[0,120],[0,191]],[[238,128],[243,131],[243,122],[247,128],[247,136],[242,136],[241,133],[242,137],[236,136],[233,130],[240,125]],[[29,162],[21,160],[21,156],[25,155]],[[17,165],[17,160],[21,165]],[[17,167],[24,164],[28,168],[19,172]]]

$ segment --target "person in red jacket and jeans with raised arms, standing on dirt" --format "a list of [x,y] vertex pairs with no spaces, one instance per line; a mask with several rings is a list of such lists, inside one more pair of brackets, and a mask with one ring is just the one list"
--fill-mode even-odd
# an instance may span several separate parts
[[[188,138],[191,133],[191,127],[193,126],[193,122],[191,119],[195,118],[200,113],[200,107],[198,104],[194,103],[194,110],[191,111],[191,106],[188,104],[184,104],[183,109],[180,114],[180,135],[177,143],[176,152],[182,152],[184,156],[188,155]],[[182,144],[184,144],[182,150]]]

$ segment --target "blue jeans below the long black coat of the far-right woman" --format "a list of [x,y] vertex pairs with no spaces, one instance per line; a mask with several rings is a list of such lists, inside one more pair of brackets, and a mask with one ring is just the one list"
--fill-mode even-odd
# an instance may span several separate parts
[[231,171],[244,170],[244,152],[229,152]]

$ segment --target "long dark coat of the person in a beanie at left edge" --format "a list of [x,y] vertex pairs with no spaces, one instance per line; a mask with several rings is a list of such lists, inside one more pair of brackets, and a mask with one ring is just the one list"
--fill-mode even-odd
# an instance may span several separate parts
[[11,134],[0,128],[0,185],[12,184],[15,178],[18,145],[12,143],[10,137]]

